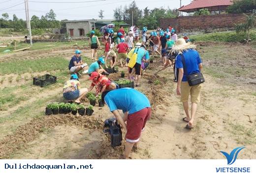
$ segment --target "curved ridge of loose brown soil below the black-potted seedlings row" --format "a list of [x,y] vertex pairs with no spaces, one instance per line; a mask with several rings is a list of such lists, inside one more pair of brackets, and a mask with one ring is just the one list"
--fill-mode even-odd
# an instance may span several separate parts
[[0,141],[0,159],[9,158],[10,154],[18,149],[26,148],[45,128],[54,128],[58,125],[76,125],[80,128],[102,130],[102,120],[95,117],[68,115],[46,116],[35,118],[30,123],[17,128],[15,133],[7,135]]

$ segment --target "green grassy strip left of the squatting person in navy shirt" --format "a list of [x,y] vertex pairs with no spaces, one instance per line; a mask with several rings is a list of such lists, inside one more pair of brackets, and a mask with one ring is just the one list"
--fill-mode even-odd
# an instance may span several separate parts
[[64,70],[67,69],[68,63],[68,60],[63,57],[47,57],[34,60],[0,62],[0,75]]

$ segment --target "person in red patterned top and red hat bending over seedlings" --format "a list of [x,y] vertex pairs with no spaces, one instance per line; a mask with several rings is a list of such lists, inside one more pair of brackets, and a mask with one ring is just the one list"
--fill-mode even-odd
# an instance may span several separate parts
[[92,91],[96,86],[96,93],[101,94],[104,91],[110,91],[116,89],[116,84],[113,83],[109,78],[104,75],[101,75],[97,72],[93,72],[89,78],[92,80],[92,84],[89,88],[89,91]]

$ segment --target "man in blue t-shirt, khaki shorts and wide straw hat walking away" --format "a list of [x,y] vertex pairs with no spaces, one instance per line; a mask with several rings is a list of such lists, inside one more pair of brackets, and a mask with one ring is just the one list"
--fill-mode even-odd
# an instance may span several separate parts
[[[197,103],[200,102],[200,92],[202,85],[190,86],[188,83],[187,75],[193,73],[199,73],[202,71],[202,61],[199,53],[195,50],[196,46],[191,43],[186,43],[185,39],[181,38],[176,41],[176,45],[172,47],[172,52],[178,52],[176,56],[176,68],[179,69],[178,82],[177,82],[177,95],[181,96],[181,102],[186,113],[186,117],[183,118],[184,122],[187,122],[185,128],[192,129],[195,117],[195,112],[197,108]],[[184,62],[186,66],[186,72],[184,74],[184,65],[182,61],[184,57]],[[191,115],[189,113],[189,95],[191,95]]]

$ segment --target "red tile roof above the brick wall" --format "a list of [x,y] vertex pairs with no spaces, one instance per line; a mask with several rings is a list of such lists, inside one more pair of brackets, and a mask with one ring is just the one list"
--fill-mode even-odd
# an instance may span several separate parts
[[182,6],[179,11],[187,11],[197,8],[232,5],[233,0],[193,0],[189,5]]

